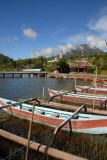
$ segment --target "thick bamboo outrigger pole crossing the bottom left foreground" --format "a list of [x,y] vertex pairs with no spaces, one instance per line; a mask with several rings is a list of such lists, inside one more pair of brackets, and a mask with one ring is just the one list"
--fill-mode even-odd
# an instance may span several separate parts
[[[6,138],[8,140],[11,140],[15,143],[21,144],[21,145],[26,145],[27,144],[27,139],[19,137],[17,135],[14,135],[12,133],[6,132],[4,130],[0,129],[0,136],[2,136],[3,138]],[[32,141],[30,141],[30,143],[32,143]],[[39,143],[33,142],[32,144],[30,144],[29,148],[35,150],[35,151],[39,151],[41,153],[45,153],[45,149],[46,146],[45,145],[41,145]],[[61,159],[61,160],[84,160],[84,158],[66,153],[66,152],[62,152],[60,150],[54,149],[54,148],[49,148],[47,154],[51,157],[57,158],[57,159]]]

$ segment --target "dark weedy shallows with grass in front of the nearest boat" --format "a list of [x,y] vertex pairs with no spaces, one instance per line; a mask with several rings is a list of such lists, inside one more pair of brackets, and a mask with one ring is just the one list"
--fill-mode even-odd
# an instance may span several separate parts
[[[9,116],[6,121],[0,122],[0,128],[5,129],[11,133],[27,138],[29,121],[18,119],[13,116]],[[42,125],[39,123],[33,123],[32,132],[31,132],[31,140],[36,141],[40,138],[43,138],[47,135],[52,134],[54,131],[53,128],[50,128],[46,125]],[[2,143],[3,141],[3,143]],[[39,141],[38,143],[47,145],[50,141],[50,138]],[[16,151],[21,146],[0,139],[0,153],[2,154],[3,148],[4,153],[2,154],[2,158],[6,157],[10,153]],[[89,134],[78,134],[72,133],[71,137],[68,131],[60,131],[52,147],[62,150],[64,152],[68,152],[80,157],[84,157],[90,160],[106,160],[107,159],[107,135],[89,135]],[[6,149],[7,148],[7,149]],[[15,154],[15,157],[12,157],[12,160],[23,160],[25,158],[26,149],[22,149],[18,153]],[[29,150],[29,159],[36,160],[42,159],[43,154],[38,153],[36,151]],[[52,157],[44,157],[44,160],[54,159]]]

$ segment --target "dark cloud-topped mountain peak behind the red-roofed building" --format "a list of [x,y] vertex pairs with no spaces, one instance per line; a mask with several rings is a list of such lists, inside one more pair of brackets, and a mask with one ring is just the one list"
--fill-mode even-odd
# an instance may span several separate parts
[[83,55],[90,55],[90,54],[102,54],[104,51],[96,48],[96,47],[90,47],[87,44],[76,46],[74,49],[71,49],[70,52],[67,52],[63,55],[64,58],[70,58],[71,56],[82,55],[82,49],[83,49]]

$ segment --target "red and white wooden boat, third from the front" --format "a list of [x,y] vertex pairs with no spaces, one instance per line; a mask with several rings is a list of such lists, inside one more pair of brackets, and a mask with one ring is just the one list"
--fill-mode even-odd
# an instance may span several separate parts
[[76,85],[76,90],[77,91],[94,93],[95,89],[96,89],[96,93],[98,93],[98,94],[107,94],[107,88],[95,88],[95,87],[92,87],[92,86],[77,86]]

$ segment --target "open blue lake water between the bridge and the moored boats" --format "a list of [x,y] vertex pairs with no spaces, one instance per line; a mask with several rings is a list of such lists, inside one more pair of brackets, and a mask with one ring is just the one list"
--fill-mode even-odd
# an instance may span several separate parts
[[[79,85],[91,85],[91,82],[78,80]],[[50,89],[74,89],[74,79],[59,79],[46,77],[26,77],[26,78],[0,78],[0,97],[10,100],[18,100],[19,98],[28,99],[42,95],[43,87],[45,96],[48,95]]]

